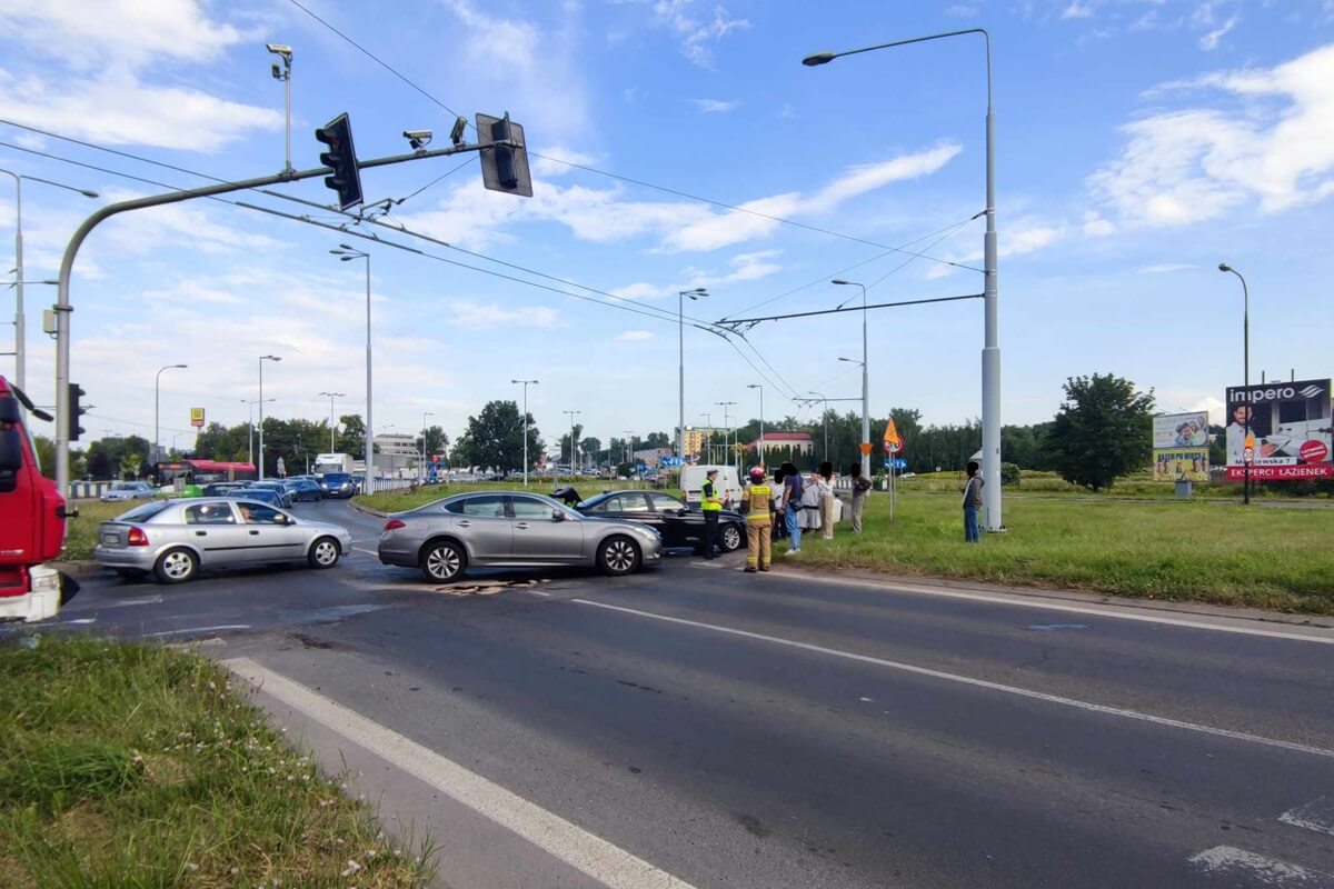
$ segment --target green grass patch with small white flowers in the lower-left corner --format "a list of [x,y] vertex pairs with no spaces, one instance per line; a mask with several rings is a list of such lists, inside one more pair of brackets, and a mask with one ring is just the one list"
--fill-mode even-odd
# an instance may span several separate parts
[[36,648],[0,644],[0,885],[426,885],[428,866],[216,665],[155,645],[28,638]]

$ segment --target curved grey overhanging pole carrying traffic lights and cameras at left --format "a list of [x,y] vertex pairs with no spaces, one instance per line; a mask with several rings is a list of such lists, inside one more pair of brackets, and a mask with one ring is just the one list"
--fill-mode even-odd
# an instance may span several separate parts
[[[411,155],[392,155],[390,157],[374,157],[371,160],[359,160],[356,163],[358,169],[370,169],[374,167],[391,167],[394,164],[403,164],[412,160],[426,160],[428,157],[448,157],[451,155],[462,155],[464,152],[482,151],[484,148],[492,148],[499,145],[502,148],[515,148],[522,149],[523,143],[520,141],[495,141],[487,145],[451,145],[448,148],[435,148],[430,151],[416,151]],[[149,197],[136,197],[128,201],[119,201],[116,204],[108,204],[92,213],[88,219],[83,221],[73,236],[69,239],[69,244],[65,247],[64,257],[60,260],[60,285],[57,288],[56,296],[56,486],[63,496],[69,493],[69,315],[73,312],[73,307],[69,305],[69,276],[73,271],[75,257],[79,255],[79,248],[83,247],[84,240],[97,228],[103,221],[133,209],[145,209],[148,207],[163,207],[165,204],[179,204],[181,201],[195,200],[199,197],[213,197],[216,195],[229,195],[232,192],[244,192],[252,188],[260,188],[263,185],[279,185],[281,183],[295,183],[303,179],[315,179],[316,176],[329,176],[336,171],[328,167],[316,167],[313,169],[301,169],[291,173],[283,172],[276,176],[261,176],[259,179],[247,179],[236,183],[219,183],[217,185],[205,185],[203,188],[191,188],[180,192],[168,192],[167,195],[152,195]]]

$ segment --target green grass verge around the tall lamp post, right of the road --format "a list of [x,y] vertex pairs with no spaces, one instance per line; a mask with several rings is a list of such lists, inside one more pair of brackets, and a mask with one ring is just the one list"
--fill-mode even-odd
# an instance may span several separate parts
[[875,492],[866,533],[807,534],[799,564],[1334,614],[1334,513],[1109,500],[1006,501],[1007,533],[963,542],[954,496]]

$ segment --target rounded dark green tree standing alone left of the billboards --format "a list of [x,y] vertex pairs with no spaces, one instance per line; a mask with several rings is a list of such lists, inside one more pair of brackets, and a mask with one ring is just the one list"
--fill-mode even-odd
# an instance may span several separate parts
[[1117,476],[1149,464],[1153,454],[1153,389],[1113,375],[1070,377],[1066,401],[1047,436],[1057,472],[1073,484],[1101,490]]

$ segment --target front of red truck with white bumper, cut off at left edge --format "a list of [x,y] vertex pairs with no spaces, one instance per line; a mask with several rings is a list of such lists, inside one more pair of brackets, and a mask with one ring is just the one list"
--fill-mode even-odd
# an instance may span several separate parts
[[0,621],[55,617],[73,582],[43,565],[65,541],[65,498],[41,474],[24,421],[28,397],[0,377]]

